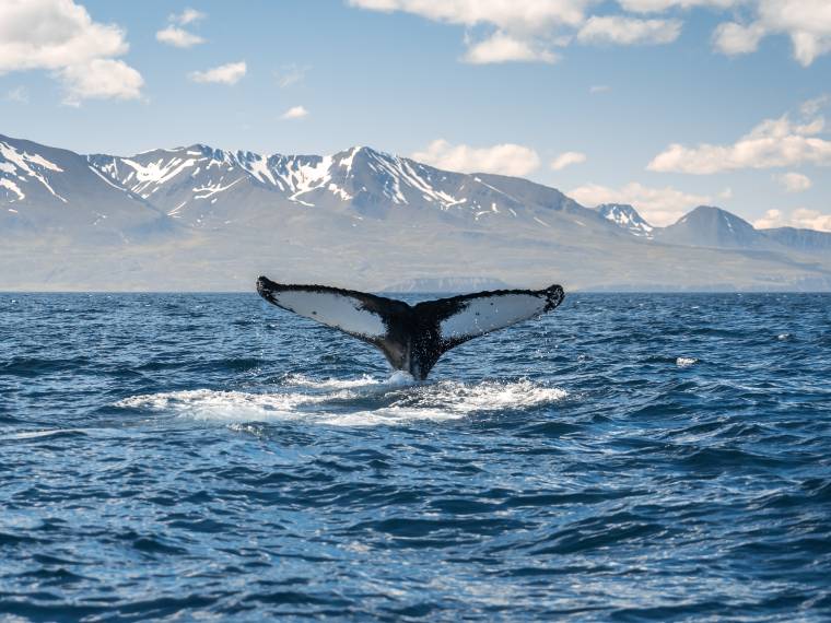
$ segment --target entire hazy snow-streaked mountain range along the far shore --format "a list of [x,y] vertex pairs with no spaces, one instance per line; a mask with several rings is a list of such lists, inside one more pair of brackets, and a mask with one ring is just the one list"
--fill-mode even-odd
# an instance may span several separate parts
[[196,144],[82,155],[0,134],[0,289],[250,290],[258,274],[368,290],[831,290],[831,234],[715,207],[668,227],[628,204],[371,148]]

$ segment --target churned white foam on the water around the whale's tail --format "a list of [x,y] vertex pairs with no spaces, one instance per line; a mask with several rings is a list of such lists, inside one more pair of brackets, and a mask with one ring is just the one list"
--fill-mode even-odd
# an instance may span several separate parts
[[405,374],[394,374],[386,381],[368,376],[314,380],[291,375],[280,391],[271,393],[194,389],[134,396],[116,407],[221,422],[304,420],[335,426],[374,426],[459,420],[473,413],[553,403],[565,396],[562,389],[527,379],[421,385]]

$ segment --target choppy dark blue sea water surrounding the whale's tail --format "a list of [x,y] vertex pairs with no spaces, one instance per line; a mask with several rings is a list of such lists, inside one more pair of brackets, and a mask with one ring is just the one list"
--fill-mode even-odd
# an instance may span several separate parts
[[576,294],[429,383],[255,294],[0,295],[0,619],[831,618],[831,296]]

